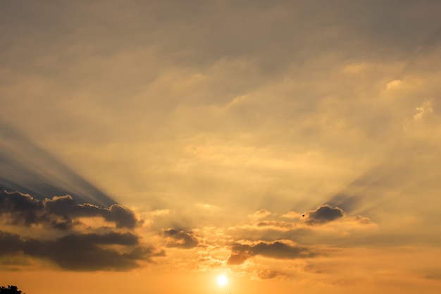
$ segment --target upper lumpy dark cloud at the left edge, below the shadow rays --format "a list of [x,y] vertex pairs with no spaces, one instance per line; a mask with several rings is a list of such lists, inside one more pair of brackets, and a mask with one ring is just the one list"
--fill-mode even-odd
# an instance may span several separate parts
[[132,211],[119,204],[108,209],[87,203],[76,204],[70,195],[40,201],[30,195],[4,190],[0,191],[0,216],[6,216],[8,222],[15,225],[42,224],[61,230],[71,228],[79,217],[100,216],[118,228],[135,228],[139,222]]

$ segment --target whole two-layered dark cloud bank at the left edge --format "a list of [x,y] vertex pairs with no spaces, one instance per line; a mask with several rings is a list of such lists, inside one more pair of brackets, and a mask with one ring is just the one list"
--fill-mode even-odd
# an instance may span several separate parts
[[[101,217],[115,227],[97,228],[101,233],[73,233],[80,217]],[[139,243],[139,236],[130,230],[141,221],[130,209],[118,204],[101,208],[76,204],[69,195],[36,200],[20,192],[1,191],[0,220],[18,228],[39,226],[41,230],[66,234],[43,240],[0,231],[0,264],[3,257],[22,255],[50,260],[73,271],[124,271],[165,255],[163,250]]]

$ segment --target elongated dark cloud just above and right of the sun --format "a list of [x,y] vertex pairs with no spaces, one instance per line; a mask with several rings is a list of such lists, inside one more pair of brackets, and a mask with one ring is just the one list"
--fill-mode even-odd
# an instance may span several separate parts
[[275,259],[297,259],[315,257],[318,253],[306,247],[291,245],[282,241],[241,244],[236,243],[231,247],[231,255],[228,264],[242,264],[245,260],[255,255],[271,257]]

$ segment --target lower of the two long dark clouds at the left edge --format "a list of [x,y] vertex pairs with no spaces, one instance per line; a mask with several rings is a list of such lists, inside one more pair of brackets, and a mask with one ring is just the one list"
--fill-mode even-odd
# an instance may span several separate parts
[[[115,245],[118,250],[113,249]],[[49,259],[73,271],[123,271],[138,267],[139,261],[152,262],[151,257],[163,256],[164,252],[139,246],[138,237],[132,233],[71,234],[37,240],[0,231],[0,257],[18,254]]]

